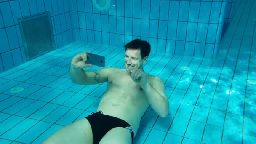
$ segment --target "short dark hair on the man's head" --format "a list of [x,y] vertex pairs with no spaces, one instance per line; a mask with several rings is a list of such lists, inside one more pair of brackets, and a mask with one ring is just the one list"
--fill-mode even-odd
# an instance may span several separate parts
[[133,49],[133,50],[140,49],[141,50],[141,58],[143,59],[144,57],[149,56],[151,46],[145,40],[134,39],[125,45],[125,51],[127,49]]

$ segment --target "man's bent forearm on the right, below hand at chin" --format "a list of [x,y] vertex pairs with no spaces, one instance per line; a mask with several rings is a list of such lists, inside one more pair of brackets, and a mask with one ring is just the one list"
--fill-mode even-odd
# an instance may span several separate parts
[[166,117],[169,111],[169,101],[165,96],[162,96],[148,82],[143,87],[149,104],[160,117]]

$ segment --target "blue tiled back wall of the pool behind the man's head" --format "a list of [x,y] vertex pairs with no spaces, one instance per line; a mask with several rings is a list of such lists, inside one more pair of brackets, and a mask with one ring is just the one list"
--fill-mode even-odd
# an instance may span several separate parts
[[111,0],[105,12],[92,0],[72,3],[75,40],[123,47],[141,38],[152,53],[214,58],[233,1]]

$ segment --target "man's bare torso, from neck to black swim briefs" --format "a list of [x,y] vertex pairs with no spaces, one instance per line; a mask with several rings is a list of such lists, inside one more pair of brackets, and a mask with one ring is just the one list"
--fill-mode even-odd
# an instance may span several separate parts
[[[151,83],[152,76],[148,75]],[[125,120],[136,134],[141,117],[149,107],[144,90],[136,84],[125,69],[116,69],[108,78],[108,88],[102,97],[98,110]]]

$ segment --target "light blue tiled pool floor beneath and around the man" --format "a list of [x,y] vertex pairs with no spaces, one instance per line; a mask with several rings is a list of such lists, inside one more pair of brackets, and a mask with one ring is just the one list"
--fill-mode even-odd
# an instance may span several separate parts
[[[124,67],[123,48],[74,42],[0,74],[1,144],[39,144],[96,111],[107,83],[76,85],[68,74],[72,57],[88,50],[105,56],[106,67]],[[134,144],[252,144],[255,65],[151,53],[144,70],[165,83],[169,115],[149,107]]]

